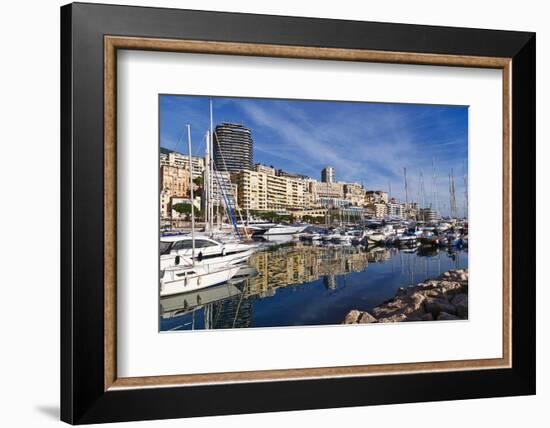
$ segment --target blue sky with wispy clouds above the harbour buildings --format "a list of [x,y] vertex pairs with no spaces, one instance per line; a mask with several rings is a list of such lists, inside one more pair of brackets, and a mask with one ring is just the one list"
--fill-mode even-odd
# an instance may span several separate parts
[[[187,153],[191,124],[193,154],[204,154],[209,98],[160,96],[160,145]],[[254,162],[320,179],[327,165],[338,181],[363,183],[404,200],[403,168],[409,199],[420,200],[420,173],[426,205],[449,208],[449,173],[454,171],[459,214],[464,206],[468,162],[468,108],[416,104],[352,103],[255,98],[213,98],[214,124],[242,123],[252,132]]]

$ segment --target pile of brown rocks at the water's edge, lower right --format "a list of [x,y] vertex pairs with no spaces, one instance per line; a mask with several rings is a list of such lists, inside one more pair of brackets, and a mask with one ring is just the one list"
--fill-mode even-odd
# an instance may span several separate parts
[[468,318],[468,270],[450,270],[436,279],[397,290],[395,297],[370,312],[354,309],[344,324]]

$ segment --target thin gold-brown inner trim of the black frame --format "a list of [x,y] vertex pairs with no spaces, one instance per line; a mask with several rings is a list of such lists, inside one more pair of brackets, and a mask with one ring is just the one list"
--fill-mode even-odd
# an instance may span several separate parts
[[[503,349],[502,358],[377,364],[344,367],[261,370],[170,376],[117,377],[116,324],[116,88],[117,50],[147,50],[214,55],[262,56],[394,64],[441,65],[502,70],[503,91]],[[512,234],[511,234],[511,58],[383,52],[250,43],[104,37],[104,389],[192,386],[235,382],[358,377],[419,372],[480,370],[511,367]]]

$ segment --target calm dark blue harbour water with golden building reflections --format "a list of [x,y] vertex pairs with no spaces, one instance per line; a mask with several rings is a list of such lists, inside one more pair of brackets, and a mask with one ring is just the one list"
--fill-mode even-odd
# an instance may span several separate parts
[[263,248],[230,282],[160,300],[160,330],[340,324],[399,287],[468,267],[467,249],[312,245]]

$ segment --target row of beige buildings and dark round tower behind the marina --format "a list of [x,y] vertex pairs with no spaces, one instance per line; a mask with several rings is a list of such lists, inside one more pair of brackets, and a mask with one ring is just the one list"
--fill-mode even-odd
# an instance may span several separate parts
[[[231,206],[242,216],[250,213],[276,213],[293,220],[324,222],[327,218],[414,219],[433,221],[438,213],[416,202],[398,201],[388,192],[368,189],[363,184],[337,180],[337,171],[327,166],[320,180],[296,174],[273,165],[254,164],[252,132],[244,125],[221,123],[216,126],[213,144],[214,179],[212,203]],[[205,159],[176,151],[160,150],[161,224],[182,220],[173,209],[189,200],[189,175],[195,183],[195,206],[200,208]]]

